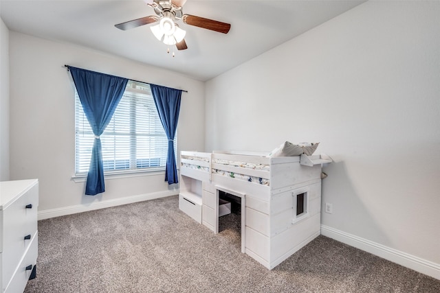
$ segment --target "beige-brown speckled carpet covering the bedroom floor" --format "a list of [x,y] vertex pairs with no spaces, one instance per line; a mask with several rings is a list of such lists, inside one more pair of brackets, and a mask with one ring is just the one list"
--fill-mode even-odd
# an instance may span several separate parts
[[177,196],[39,221],[25,292],[440,292],[440,280],[319,236],[273,270],[241,253],[239,215],[214,235]]

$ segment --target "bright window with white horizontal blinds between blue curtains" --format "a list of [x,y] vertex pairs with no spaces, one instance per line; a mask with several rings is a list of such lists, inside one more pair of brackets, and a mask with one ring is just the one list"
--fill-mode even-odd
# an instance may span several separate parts
[[[104,174],[165,169],[168,138],[148,84],[128,82],[100,140]],[[89,171],[94,134],[76,92],[75,143],[75,174],[82,176]]]

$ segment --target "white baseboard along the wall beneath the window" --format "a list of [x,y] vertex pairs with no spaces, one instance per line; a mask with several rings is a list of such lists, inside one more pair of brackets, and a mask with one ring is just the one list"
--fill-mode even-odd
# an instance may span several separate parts
[[137,196],[127,196],[125,198],[117,198],[114,200],[104,200],[101,202],[93,202],[91,204],[77,204],[70,207],[62,207],[58,209],[47,209],[39,211],[38,220],[60,217],[61,215],[71,215],[72,213],[83,213],[84,211],[94,211],[96,209],[104,209],[107,207],[116,207],[122,204],[131,204],[133,202],[142,202],[144,200],[154,200],[155,198],[165,198],[167,196],[176,196],[179,194],[177,190],[153,192],[151,194],[140,194]]

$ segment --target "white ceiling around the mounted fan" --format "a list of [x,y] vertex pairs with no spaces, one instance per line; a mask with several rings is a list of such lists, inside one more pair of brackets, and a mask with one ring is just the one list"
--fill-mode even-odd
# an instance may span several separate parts
[[174,58],[150,25],[126,31],[114,27],[155,15],[142,0],[0,0],[0,16],[14,32],[82,45],[206,81],[364,1],[188,0],[184,14],[230,23],[231,29],[221,34],[179,21],[188,49],[170,47]]

